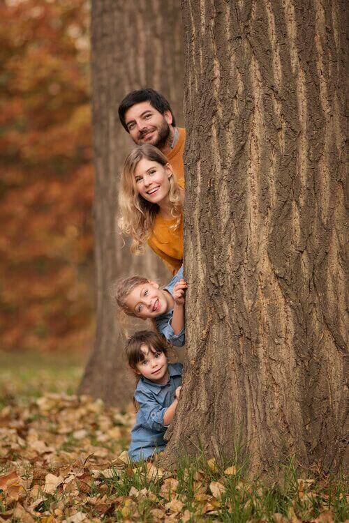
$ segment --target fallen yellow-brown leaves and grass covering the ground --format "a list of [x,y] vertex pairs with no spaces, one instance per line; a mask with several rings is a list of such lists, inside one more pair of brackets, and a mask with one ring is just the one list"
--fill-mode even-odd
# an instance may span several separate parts
[[237,463],[131,463],[135,420],[101,400],[46,393],[0,410],[0,523],[332,523],[348,517],[343,482],[292,476],[283,490]]

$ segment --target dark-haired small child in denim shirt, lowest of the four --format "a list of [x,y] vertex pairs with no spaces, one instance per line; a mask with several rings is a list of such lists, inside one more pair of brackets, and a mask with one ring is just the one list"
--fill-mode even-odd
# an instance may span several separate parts
[[128,454],[147,460],[165,449],[165,431],[176,411],[181,391],[181,363],[168,363],[168,348],[158,333],[140,331],[126,344],[128,365],[139,377],[135,401],[139,405]]

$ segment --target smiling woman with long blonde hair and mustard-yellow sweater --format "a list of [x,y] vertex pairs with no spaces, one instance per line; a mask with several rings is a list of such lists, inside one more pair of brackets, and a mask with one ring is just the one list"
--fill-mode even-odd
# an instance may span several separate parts
[[147,241],[172,274],[183,260],[183,201],[184,179],[176,181],[163,153],[150,144],[133,149],[121,173],[118,224],[131,252],[142,254]]

